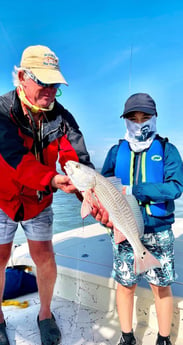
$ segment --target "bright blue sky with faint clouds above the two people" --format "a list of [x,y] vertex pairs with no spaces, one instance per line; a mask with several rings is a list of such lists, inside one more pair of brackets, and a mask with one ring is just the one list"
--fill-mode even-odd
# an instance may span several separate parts
[[91,159],[101,167],[125,133],[120,119],[133,93],[156,101],[158,132],[183,155],[183,1],[3,1],[0,94],[29,45],[59,57],[69,86],[58,101],[76,118]]

